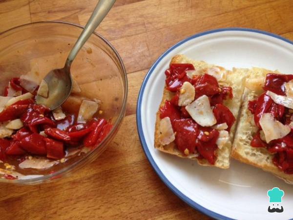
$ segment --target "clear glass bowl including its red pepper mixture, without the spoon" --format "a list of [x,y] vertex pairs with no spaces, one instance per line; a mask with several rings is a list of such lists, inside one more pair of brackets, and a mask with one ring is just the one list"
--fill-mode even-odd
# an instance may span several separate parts
[[[44,33],[48,30],[54,37]],[[7,64],[0,69],[0,182],[64,176],[100,155],[116,134],[126,110],[126,71],[115,49],[96,33],[95,44],[85,45],[91,54],[81,50],[71,67],[74,88],[61,108],[35,103],[38,92],[46,95],[45,74],[63,63],[60,51],[70,49],[81,30],[60,22],[26,24],[5,32],[5,44],[0,34],[0,52],[10,51],[0,57]]]

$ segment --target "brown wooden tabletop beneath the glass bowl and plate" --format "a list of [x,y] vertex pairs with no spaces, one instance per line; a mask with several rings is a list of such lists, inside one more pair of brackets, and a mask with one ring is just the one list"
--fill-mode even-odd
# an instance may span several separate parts
[[[37,21],[84,25],[97,0],[0,0],[0,32]],[[201,219],[148,163],[136,130],[136,101],[151,64],[198,32],[248,27],[293,40],[293,0],[117,0],[97,31],[126,66],[126,117],[104,154],[55,183],[1,184],[0,219]],[[194,186],[196,187],[196,186]]]

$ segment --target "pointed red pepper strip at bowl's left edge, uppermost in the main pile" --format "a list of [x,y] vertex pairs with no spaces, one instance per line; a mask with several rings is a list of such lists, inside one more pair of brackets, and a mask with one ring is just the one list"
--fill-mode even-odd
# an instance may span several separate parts
[[17,119],[27,108],[28,105],[17,104],[6,107],[0,112],[0,122]]

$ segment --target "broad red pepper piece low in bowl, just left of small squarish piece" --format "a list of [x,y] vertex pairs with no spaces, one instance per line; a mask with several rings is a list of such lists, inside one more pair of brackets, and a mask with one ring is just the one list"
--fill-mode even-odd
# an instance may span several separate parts
[[44,136],[38,133],[33,133],[20,141],[20,146],[25,151],[31,154],[46,155],[46,143]]

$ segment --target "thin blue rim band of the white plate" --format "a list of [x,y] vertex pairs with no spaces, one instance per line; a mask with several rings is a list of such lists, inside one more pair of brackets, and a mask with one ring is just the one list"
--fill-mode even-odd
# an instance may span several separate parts
[[240,27],[231,27],[231,28],[219,28],[219,29],[213,29],[213,30],[209,30],[209,31],[205,31],[205,32],[201,32],[195,35],[192,35],[180,42],[178,42],[177,44],[174,44],[173,46],[171,46],[170,48],[168,48],[156,61],[155,63],[150,67],[150,69],[148,70],[145,79],[142,83],[142,86],[140,88],[139,91],[139,95],[138,95],[138,100],[137,100],[137,107],[136,107],[136,125],[137,125],[137,130],[138,130],[138,135],[139,135],[139,139],[141,142],[141,145],[143,147],[143,150],[146,154],[146,158],[148,159],[149,163],[151,164],[152,168],[155,170],[155,172],[157,173],[157,175],[161,178],[161,180],[165,183],[165,185],[167,185],[167,187],[179,198],[181,198],[183,201],[185,201],[189,206],[191,206],[192,208],[197,209],[198,211],[208,215],[209,217],[215,218],[215,219],[219,219],[219,220],[233,220],[229,217],[220,215],[216,212],[213,212],[207,208],[205,208],[204,206],[201,206],[200,204],[196,203],[195,201],[191,200],[190,198],[188,198],[187,196],[185,196],[183,193],[181,193],[168,179],[166,176],[164,176],[164,174],[162,173],[162,171],[160,170],[160,168],[158,167],[158,165],[156,164],[156,162],[154,161],[154,159],[152,158],[148,148],[147,148],[147,144],[146,144],[146,139],[143,133],[143,126],[142,126],[142,121],[141,121],[141,106],[142,106],[142,98],[144,95],[144,91],[146,88],[146,84],[147,81],[150,77],[150,75],[152,74],[153,70],[155,69],[155,67],[160,63],[160,61],[169,53],[171,52],[173,49],[175,49],[176,47],[180,46],[181,44],[184,44],[185,42],[188,42],[194,38],[198,38],[204,35],[208,35],[208,34],[212,34],[212,33],[216,33],[216,32],[223,32],[223,31],[246,31],[246,32],[254,32],[254,33],[259,33],[259,34],[263,34],[263,35],[268,35],[274,38],[277,38],[279,40],[285,41],[289,44],[293,44],[292,41],[281,37],[277,34],[273,34],[271,32],[267,32],[267,31],[262,31],[262,30],[258,30],[258,29],[251,29],[251,28],[240,28]]

